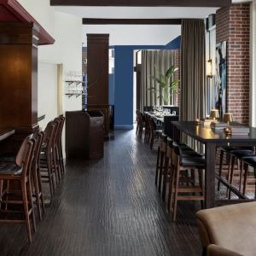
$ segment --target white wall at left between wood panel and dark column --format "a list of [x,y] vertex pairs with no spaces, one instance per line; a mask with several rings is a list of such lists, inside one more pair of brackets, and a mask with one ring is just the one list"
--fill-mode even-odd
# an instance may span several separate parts
[[[38,47],[38,61],[52,64],[63,64],[63,74],[68,71],[82,71],[82,20],[79,17],[64,14],[55,11],[54,7],[49,5],[49,0],[18,0],[20,4],[33,16],[34,19],[55,38],[55,44],[45,45]],[[47,93],[49,95],[55,94],[57,84],[48,86],[44,84],[45,81],[55,80],[53,73],[48,73],[46,68],[38,70],[38,99],[41,97],[39,94]],[[63,83],[64,83],[63,78]],[[46,86],[45,86],[46,85]],[[68,98],[65,96],[65,83],[63,84],[63,110],[77,110],[81,109],[81,97]],[[40,114],[49,112],[49,108],[45,105],[41,106],[42,102],[38,102],[38,109]],[[57,102],[49,104],[52,113],[55,113]],[[46,121],[51,117],[46,115]]]

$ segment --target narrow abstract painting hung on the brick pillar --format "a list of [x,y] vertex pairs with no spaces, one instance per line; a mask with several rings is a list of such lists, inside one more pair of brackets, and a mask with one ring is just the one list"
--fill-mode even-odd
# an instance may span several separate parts
[[214,84],[215,108],[219,111],[220,118],[226,112],[227,89],[227,48],[226,41],[216,44],[216,77]]

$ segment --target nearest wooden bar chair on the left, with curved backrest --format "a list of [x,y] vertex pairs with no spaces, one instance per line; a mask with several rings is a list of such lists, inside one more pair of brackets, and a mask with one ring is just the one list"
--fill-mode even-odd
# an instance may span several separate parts
[[[30,218],[32,218],[33,230],[36,232],[36,221],[32,202],[32,159],[34,156],[35,141],[32,136],[26,137],[15,159],[15,165],[2,163],[0,165],[0,179],[7,182],[7,188],[1,191],[1,223],[26,224],[28,240],[32,242]],[[9,182],[15,181],[20,184],[20,189],[10,190]],[[5,205],[5,207],[3,207]],[[23,205],[25,218],[9,218],[9,213],[19,214],[20,211],[12,210],[10,205]]]

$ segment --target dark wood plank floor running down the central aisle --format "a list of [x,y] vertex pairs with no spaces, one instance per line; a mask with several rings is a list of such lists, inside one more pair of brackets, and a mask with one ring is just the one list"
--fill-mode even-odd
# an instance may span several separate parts
[[104,159],[67,163],[31,246],[25,226],[0,225],[0,255],[200,255],[200,204],[179,203],[172,223],[154,186],[155,158],[135,131],[115,132]]

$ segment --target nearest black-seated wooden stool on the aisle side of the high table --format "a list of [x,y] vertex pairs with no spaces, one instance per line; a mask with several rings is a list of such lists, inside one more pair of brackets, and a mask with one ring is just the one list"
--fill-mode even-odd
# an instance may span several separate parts
[[[176,221],[177,201],[201,201],[201,204],[204,201],[202,170],[205,168],[205,160],[200,156],[182,156],[180,149],[175,147],[172,149],[172,166],[170,207],[172,208],[172,220]],[[181,177],[183,171],[191,172],[191,177],[187,177],[187,175]],[[196,171],[198,172],[198,185],[195,184]],[[195,195],[195,193],[199,193],[200,195]]]

